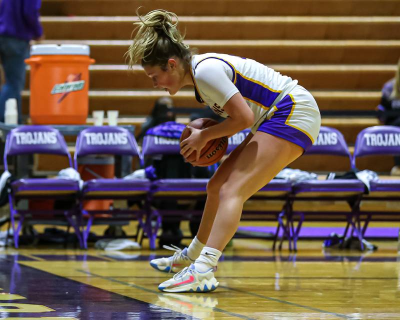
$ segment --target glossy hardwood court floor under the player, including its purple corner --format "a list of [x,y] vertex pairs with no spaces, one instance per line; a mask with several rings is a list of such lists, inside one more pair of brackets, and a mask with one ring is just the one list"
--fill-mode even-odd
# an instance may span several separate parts
[[[163,293],[169,275],[148,260],[169,251],[5,249],[0,252],[0,318],[399,319],[396,241],[375,252],[327,251],[300,241],[273,252],[265,240],[234,239],[211,293]],[[8,293],[9,292],[9,293]]]

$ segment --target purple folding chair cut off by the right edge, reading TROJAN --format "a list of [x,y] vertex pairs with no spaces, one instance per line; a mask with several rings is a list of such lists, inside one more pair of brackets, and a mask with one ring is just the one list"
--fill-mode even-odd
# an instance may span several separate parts
[[[392,125],[376,125],[367,127],[357,134],[351,166],[356,168],[356,159],[369,155],[400,155],[400,127]],[[371,168],[373,169],[373,168]],[[399,201],[400,179],[376,179],[369,181],[369,192],[362,195],[362,203],[368,201]],[[384,207],[384,206],[383,206]],[[369,221],[398,221],[398,211],[363,210],[365,216],[361,229],[363,236]],[[358,223],[360,223],[358,221]]]

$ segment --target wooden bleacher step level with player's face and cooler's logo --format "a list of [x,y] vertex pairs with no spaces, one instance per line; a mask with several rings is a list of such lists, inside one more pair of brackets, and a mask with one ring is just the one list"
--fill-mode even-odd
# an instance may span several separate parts
[[[380,90],[393,77],[395,64],[271,64],[269,67],[288,75],[309,90]],[[91,89],[148,89],[151,80],[139,65],[128,70],[126,64],[93,64],[89,66]],[[29,70],[26,74],[29,87]]]

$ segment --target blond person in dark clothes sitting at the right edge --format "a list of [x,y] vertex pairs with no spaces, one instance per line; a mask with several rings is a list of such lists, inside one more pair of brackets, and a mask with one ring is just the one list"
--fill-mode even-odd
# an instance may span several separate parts
[[[400,126],[400,59],[397,62],[394,78],[388,80],[382,87],[382,97],[377,110],[382,124]],[[390,174],[400,175],[400,156],[394,157],[394,166]]]

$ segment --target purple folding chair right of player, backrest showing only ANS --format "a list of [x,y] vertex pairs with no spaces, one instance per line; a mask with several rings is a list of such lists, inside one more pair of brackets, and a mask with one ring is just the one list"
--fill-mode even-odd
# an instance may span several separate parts
[[[343,135],[335,128],[321,126],[318,137],[311,148],[305,154],[328,154],[339,155],[348,158],[349,167],[351,155],[348,151],[347,143]],[[337,218],[337,215],[345,214],[347,224],[344,230],[344,236],[347,234],[348,228],[352,226],[352,232],[355,231],[360,244],[362,246],[362,235],[359,225],[356,226],[354,222],[357,221],[358,204],[361,195],[364,192],[364,184],[358,179],[307,179],[295,182],[292,186],[292,195],[290,197],[288,211],[288,225],[286,225],[287,232],[290,232],[290,239],[293,241],[293,248],[297,250],[297,239],[300,232],[301,224],[304,221],[305,214],[315,214],[315,211],[295,211],[293,212],[293,202],[296,201],[332,201],[332,200],[345,200],[350,207],[350,212],[341,211],[323,211],[323,215],[329,215],[331,218]],[[294,227],[294,215],[298,215],[297,226]],[[313,220],[318,220],[314,217]]]

